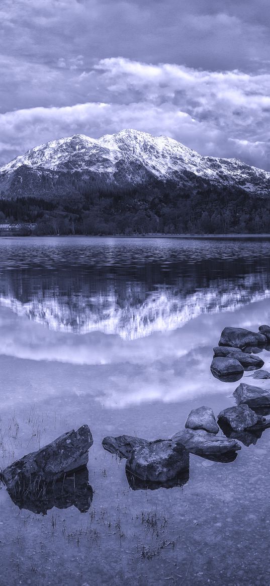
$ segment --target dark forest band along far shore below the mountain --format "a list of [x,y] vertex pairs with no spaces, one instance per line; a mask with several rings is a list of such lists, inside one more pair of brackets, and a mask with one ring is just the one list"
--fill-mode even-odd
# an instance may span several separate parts
[[270,199],[241,188],[203,182],[192,189],[168,182],[120,188],[73,181],[50,197],[42,195],[1,195],[0,223],[36,223],[36,235],[270,232]]

